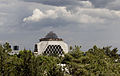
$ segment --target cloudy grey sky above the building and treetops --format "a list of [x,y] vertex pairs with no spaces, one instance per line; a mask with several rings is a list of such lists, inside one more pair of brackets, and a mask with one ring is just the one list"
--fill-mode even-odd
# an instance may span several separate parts
[[120,49],[120,0],[0,0],[0,43],[33,49],[49,31],[86,51]]

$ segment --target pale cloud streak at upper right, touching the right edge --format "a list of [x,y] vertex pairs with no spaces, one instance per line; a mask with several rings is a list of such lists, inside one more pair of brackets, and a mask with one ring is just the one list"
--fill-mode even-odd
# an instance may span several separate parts
[[109,10],[106,8],[76,8],[81,14],[88,14],[90,16],[112,18],[120,17],[119,12],[115,10]]

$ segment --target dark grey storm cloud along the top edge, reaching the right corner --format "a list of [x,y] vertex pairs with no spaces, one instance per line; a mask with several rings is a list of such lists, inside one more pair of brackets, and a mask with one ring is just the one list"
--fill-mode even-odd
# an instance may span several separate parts
[[[95,8],[109,8],[114,10],[119,10],[119,0],[24,0],[26,2],[36,2],[42,3],[46,5],[53,5],[53,6],[84,6],[81,1],[89,1],[93,4]],[[71,8],[72,8],[71,7]]]

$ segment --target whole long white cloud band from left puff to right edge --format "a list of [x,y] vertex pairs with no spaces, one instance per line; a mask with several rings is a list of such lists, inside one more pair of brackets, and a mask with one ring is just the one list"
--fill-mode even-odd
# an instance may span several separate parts
[[[62,19],[74,23],[106,23],[120,19],[120,11],[105,8],[80,8],[67,10],[67,7],[54,7],[51,10],[33,10],[33,15],[23,19],[24,22],[39,22],[42,19]],[[106,22],[105,22],[106,21]]]

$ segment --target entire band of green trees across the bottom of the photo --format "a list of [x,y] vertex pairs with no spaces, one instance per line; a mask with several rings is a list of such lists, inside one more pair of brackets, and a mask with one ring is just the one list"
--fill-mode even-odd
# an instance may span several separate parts
[[64,57],[34,56],[26,49],[18,55],[9,55],[12,50],[5,43],[0,45],[0,76],[120,76],[117,48],[93,46],[86,52],[80,48],[71,46]]

